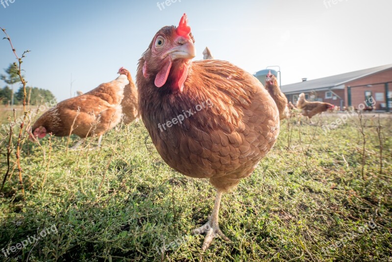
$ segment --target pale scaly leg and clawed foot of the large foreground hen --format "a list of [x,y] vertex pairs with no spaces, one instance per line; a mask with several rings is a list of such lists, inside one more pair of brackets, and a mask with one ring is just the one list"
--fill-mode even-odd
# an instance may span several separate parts
[[192,234],[194,235],[200,235],[204,232],[206,233],[203,246],[201,247],[202,251],[207,250],[207,248],[210,247],[212,240],[217,236],[220,236],[223,240],[230,241],[230,239],[222,233],[218,224],[219,208],[221,206],[222,194],[223,191],[217,189],[217,196],[215,197],[214,209],[212,210],[212,215],[208,218],[209,219],[208,222],[205,223],[203,226],[192,231]]

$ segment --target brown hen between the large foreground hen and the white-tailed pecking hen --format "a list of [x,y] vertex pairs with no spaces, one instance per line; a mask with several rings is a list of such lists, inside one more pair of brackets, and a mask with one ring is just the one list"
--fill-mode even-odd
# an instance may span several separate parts
[[129,84],[124,89],[124,99],[121,102],[123,106],[123,114],[125,115],[124,124],[128,125],[137,118],[138,115],[138,90],[135,82],[128,70],[121,68],[120,72],[127,76]]

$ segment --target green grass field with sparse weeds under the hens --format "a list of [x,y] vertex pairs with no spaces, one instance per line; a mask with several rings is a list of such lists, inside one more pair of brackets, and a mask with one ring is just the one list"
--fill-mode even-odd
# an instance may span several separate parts
[[[337,118],[322,116],[319,123]],[[320,126],[292,119],[288,149],[285,121],[277,144],[252,176],[223,195],[220,225],[232,242],[215,239],[205,253],[200,252],[203,236],[190,232],[207,221],[215,190],[207,180],[173,172],[159,157],[143,123],[110,131],[101,151],[65,155],[67,138],[53,137],[49,157],[48,138],[42,140],[42,148],[26,143],[21,154],[26,195],[21,195],[13,169],[0,198],[0,249],[31,239],[43,229],[47,234],[7,257],[0,250],[0,258],[392,261],[391,117],[381,119],[382,174],[377,117],[367,123],[364,178],[362,134],[354,122],[358,120],[352,117],[325,133]],[[5,159],[3,150],[2,174]]]

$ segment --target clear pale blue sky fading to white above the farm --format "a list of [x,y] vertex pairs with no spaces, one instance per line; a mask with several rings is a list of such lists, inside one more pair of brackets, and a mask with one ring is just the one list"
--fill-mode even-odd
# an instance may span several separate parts
[[[64,100],[71,74],[73,93],[115,79],[122,66],[134,76],[155,33],[184,12],[196,60],[208,46],[250,73],[280,65],[289,84],[392,63],[391,10],[391,0],[177,0],[162,10],[157,0],[14,0],[0,4],[0,26],[19,54],[31,50],[28,85]],[[1,73],[14,61],[1,40]]]

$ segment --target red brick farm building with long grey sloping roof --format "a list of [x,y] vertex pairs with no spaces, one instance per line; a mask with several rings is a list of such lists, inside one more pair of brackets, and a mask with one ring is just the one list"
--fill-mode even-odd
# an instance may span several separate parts
[[[392,110],[392,64],[345,73],[321,79],[307,80],[281,87],[287,99],[296,103],[300,93],[309,101],[333,105],[354,106],[373,98],[375,110]],[[372,100],[370,100],[372,101]]]

